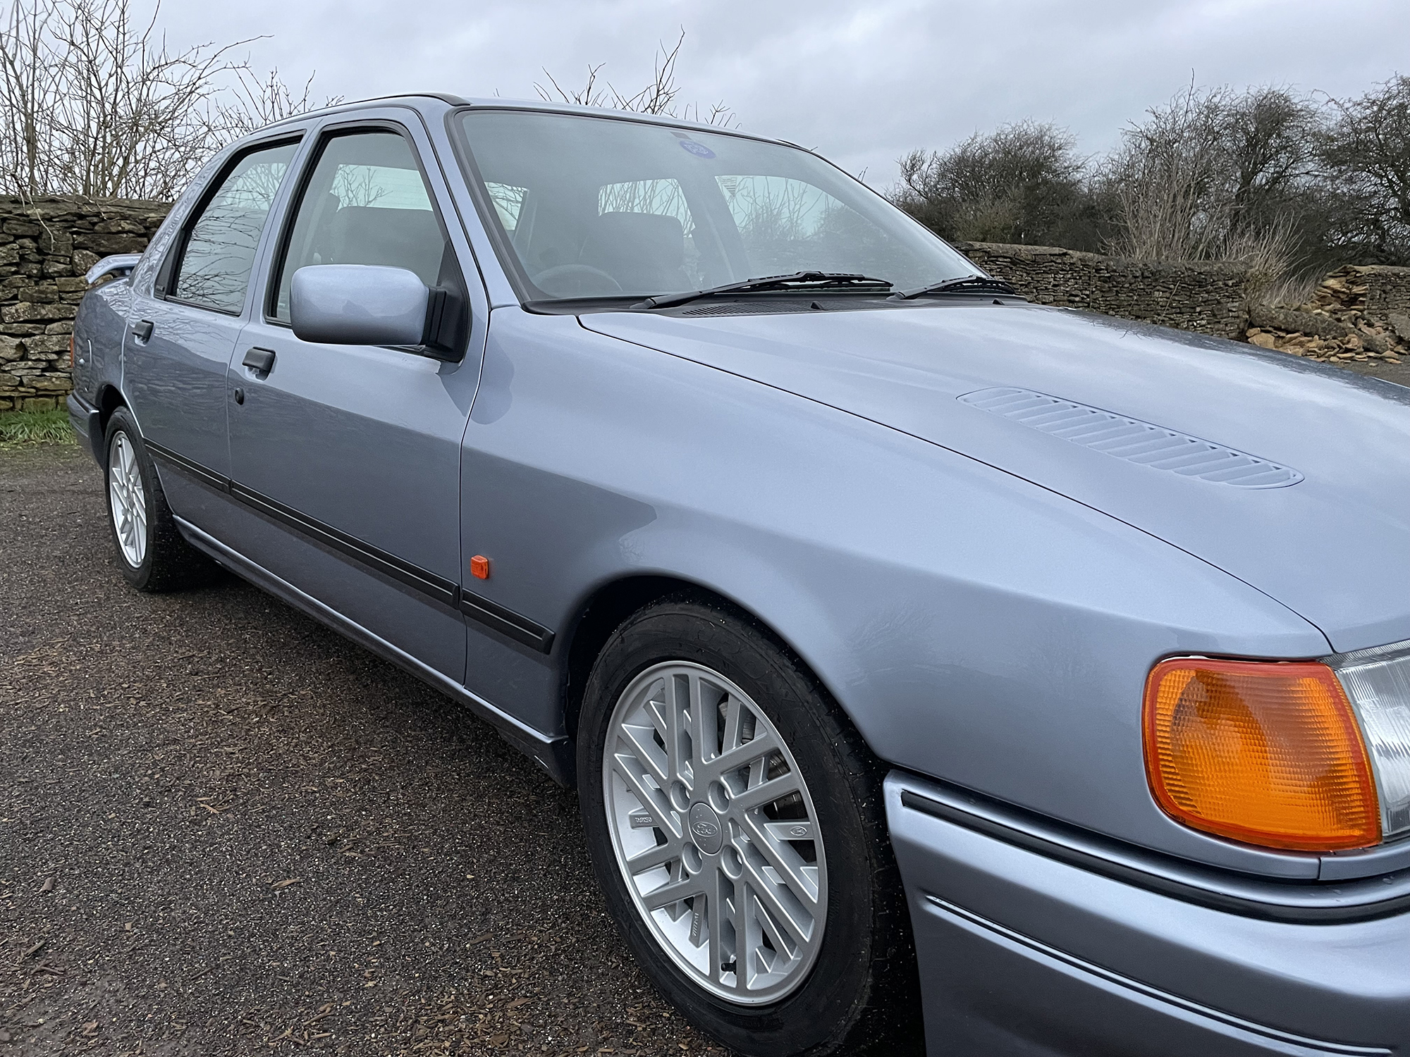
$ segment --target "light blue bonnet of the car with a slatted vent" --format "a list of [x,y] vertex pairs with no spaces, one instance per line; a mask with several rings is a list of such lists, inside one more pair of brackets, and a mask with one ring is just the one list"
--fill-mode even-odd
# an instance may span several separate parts
[[[1410,389],[1220,338],[969,299],[695,319],[599,313],[582,326],[871,419],[1101,510],[1277,599],[1338,651],[1410,638]],[[1048,421],[1045,397],[1060,402],[1048,404]],[[1155,443],[1112,448],[1060,428],[1065,416],[1103,421],[1093,409],[1111,413],[1104,421],[1117,433]],[[1146,424],[1160,428],[1141,434]],[[1179,443],[1197,457],[1162,448]],[[1221,479],[1222,466],[1235,472]]]

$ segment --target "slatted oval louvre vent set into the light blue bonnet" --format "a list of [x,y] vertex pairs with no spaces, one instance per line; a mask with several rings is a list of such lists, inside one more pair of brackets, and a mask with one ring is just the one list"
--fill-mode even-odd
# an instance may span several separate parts
[[1303,479],[1292,466],[1031,389],[980,389],[957,399],[1084,448],[1187,478],[1238,488],[1287,488]]

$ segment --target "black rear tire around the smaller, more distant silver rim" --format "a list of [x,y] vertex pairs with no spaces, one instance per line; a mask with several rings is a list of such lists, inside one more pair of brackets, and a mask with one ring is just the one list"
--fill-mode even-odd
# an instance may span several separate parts
[[[125,440],[142,482],[142,497],[147,509],[147,545],[140,564],[134,565],[123,551],[118,538],[117,519],[113,510],[113,459],[118,437]],[[182,538],[166,505],[161,479],[152,457],[142,444],[137,423],[125,407],[118,407],[107,420],[103,434],[103,490],[107,506],[107,526],[113,534],[113,548],[117,551],[117,565],[123,576],[138,591],[164,592],[180,591],[210,583],[220,572],[204,554]]]

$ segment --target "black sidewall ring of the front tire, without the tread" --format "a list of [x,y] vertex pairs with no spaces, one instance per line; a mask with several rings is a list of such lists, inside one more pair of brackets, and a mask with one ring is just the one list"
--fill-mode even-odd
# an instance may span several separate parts
[[[733,681],[773,722],[808,785],[823,837],[828,912],[822,947],[808,978],[784,999],[739,1006],[694,982],[661,947],[626,891],[606,822],[602,761],[606,727],[622,692],[661,661],[705,665]],[[608,641],[584,698],[578,724],[578,786],[594,868],[613,917],[658,989],[697,1023],[742,1053],[830,1051],[867,1001],[871,965],[871,891],[876,874],[857,775],[819,722],[826,709],[795,664],[760,631],[698,603],[660,606],[629,620]]]

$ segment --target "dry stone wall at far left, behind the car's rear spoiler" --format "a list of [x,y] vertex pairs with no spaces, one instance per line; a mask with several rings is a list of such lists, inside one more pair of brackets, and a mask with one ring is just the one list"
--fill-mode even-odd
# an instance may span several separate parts
[[0,412],[63,406],[83,273],[109,254],[137,254],[164,202],[0,197]]

